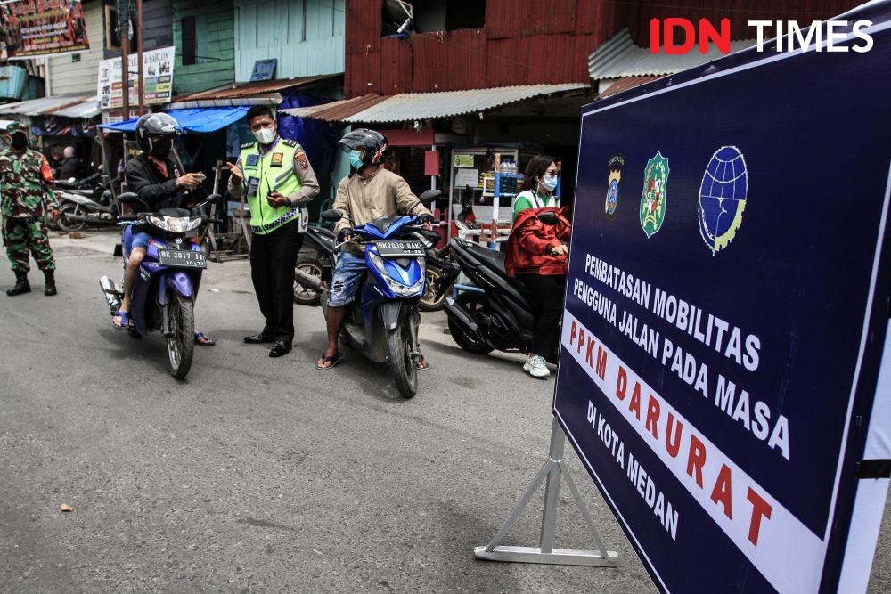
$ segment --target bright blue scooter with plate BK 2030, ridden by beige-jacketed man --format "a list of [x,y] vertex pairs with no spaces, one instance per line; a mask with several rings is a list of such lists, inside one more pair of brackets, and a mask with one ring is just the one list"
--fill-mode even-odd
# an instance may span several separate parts
[[[420,199],[429,204],[440,194],[429,190]],[[339,221],[343,215],[339,210],[326,210],[322,218]],[[427,280],[425,243],[418,234],[436,235],[436,239],[438,235],[423,229],[415,216],[380,216],[354,227],[353,233],[353,241],[364,244],[368,273],[356,299],[346,306],[341,336],[373,362],[388,362],[399,393],[411,398],[418,391],[418,302]],[[335,246],[335,254],[343,245]],[[325,289],[321,304],[327,317]]]

